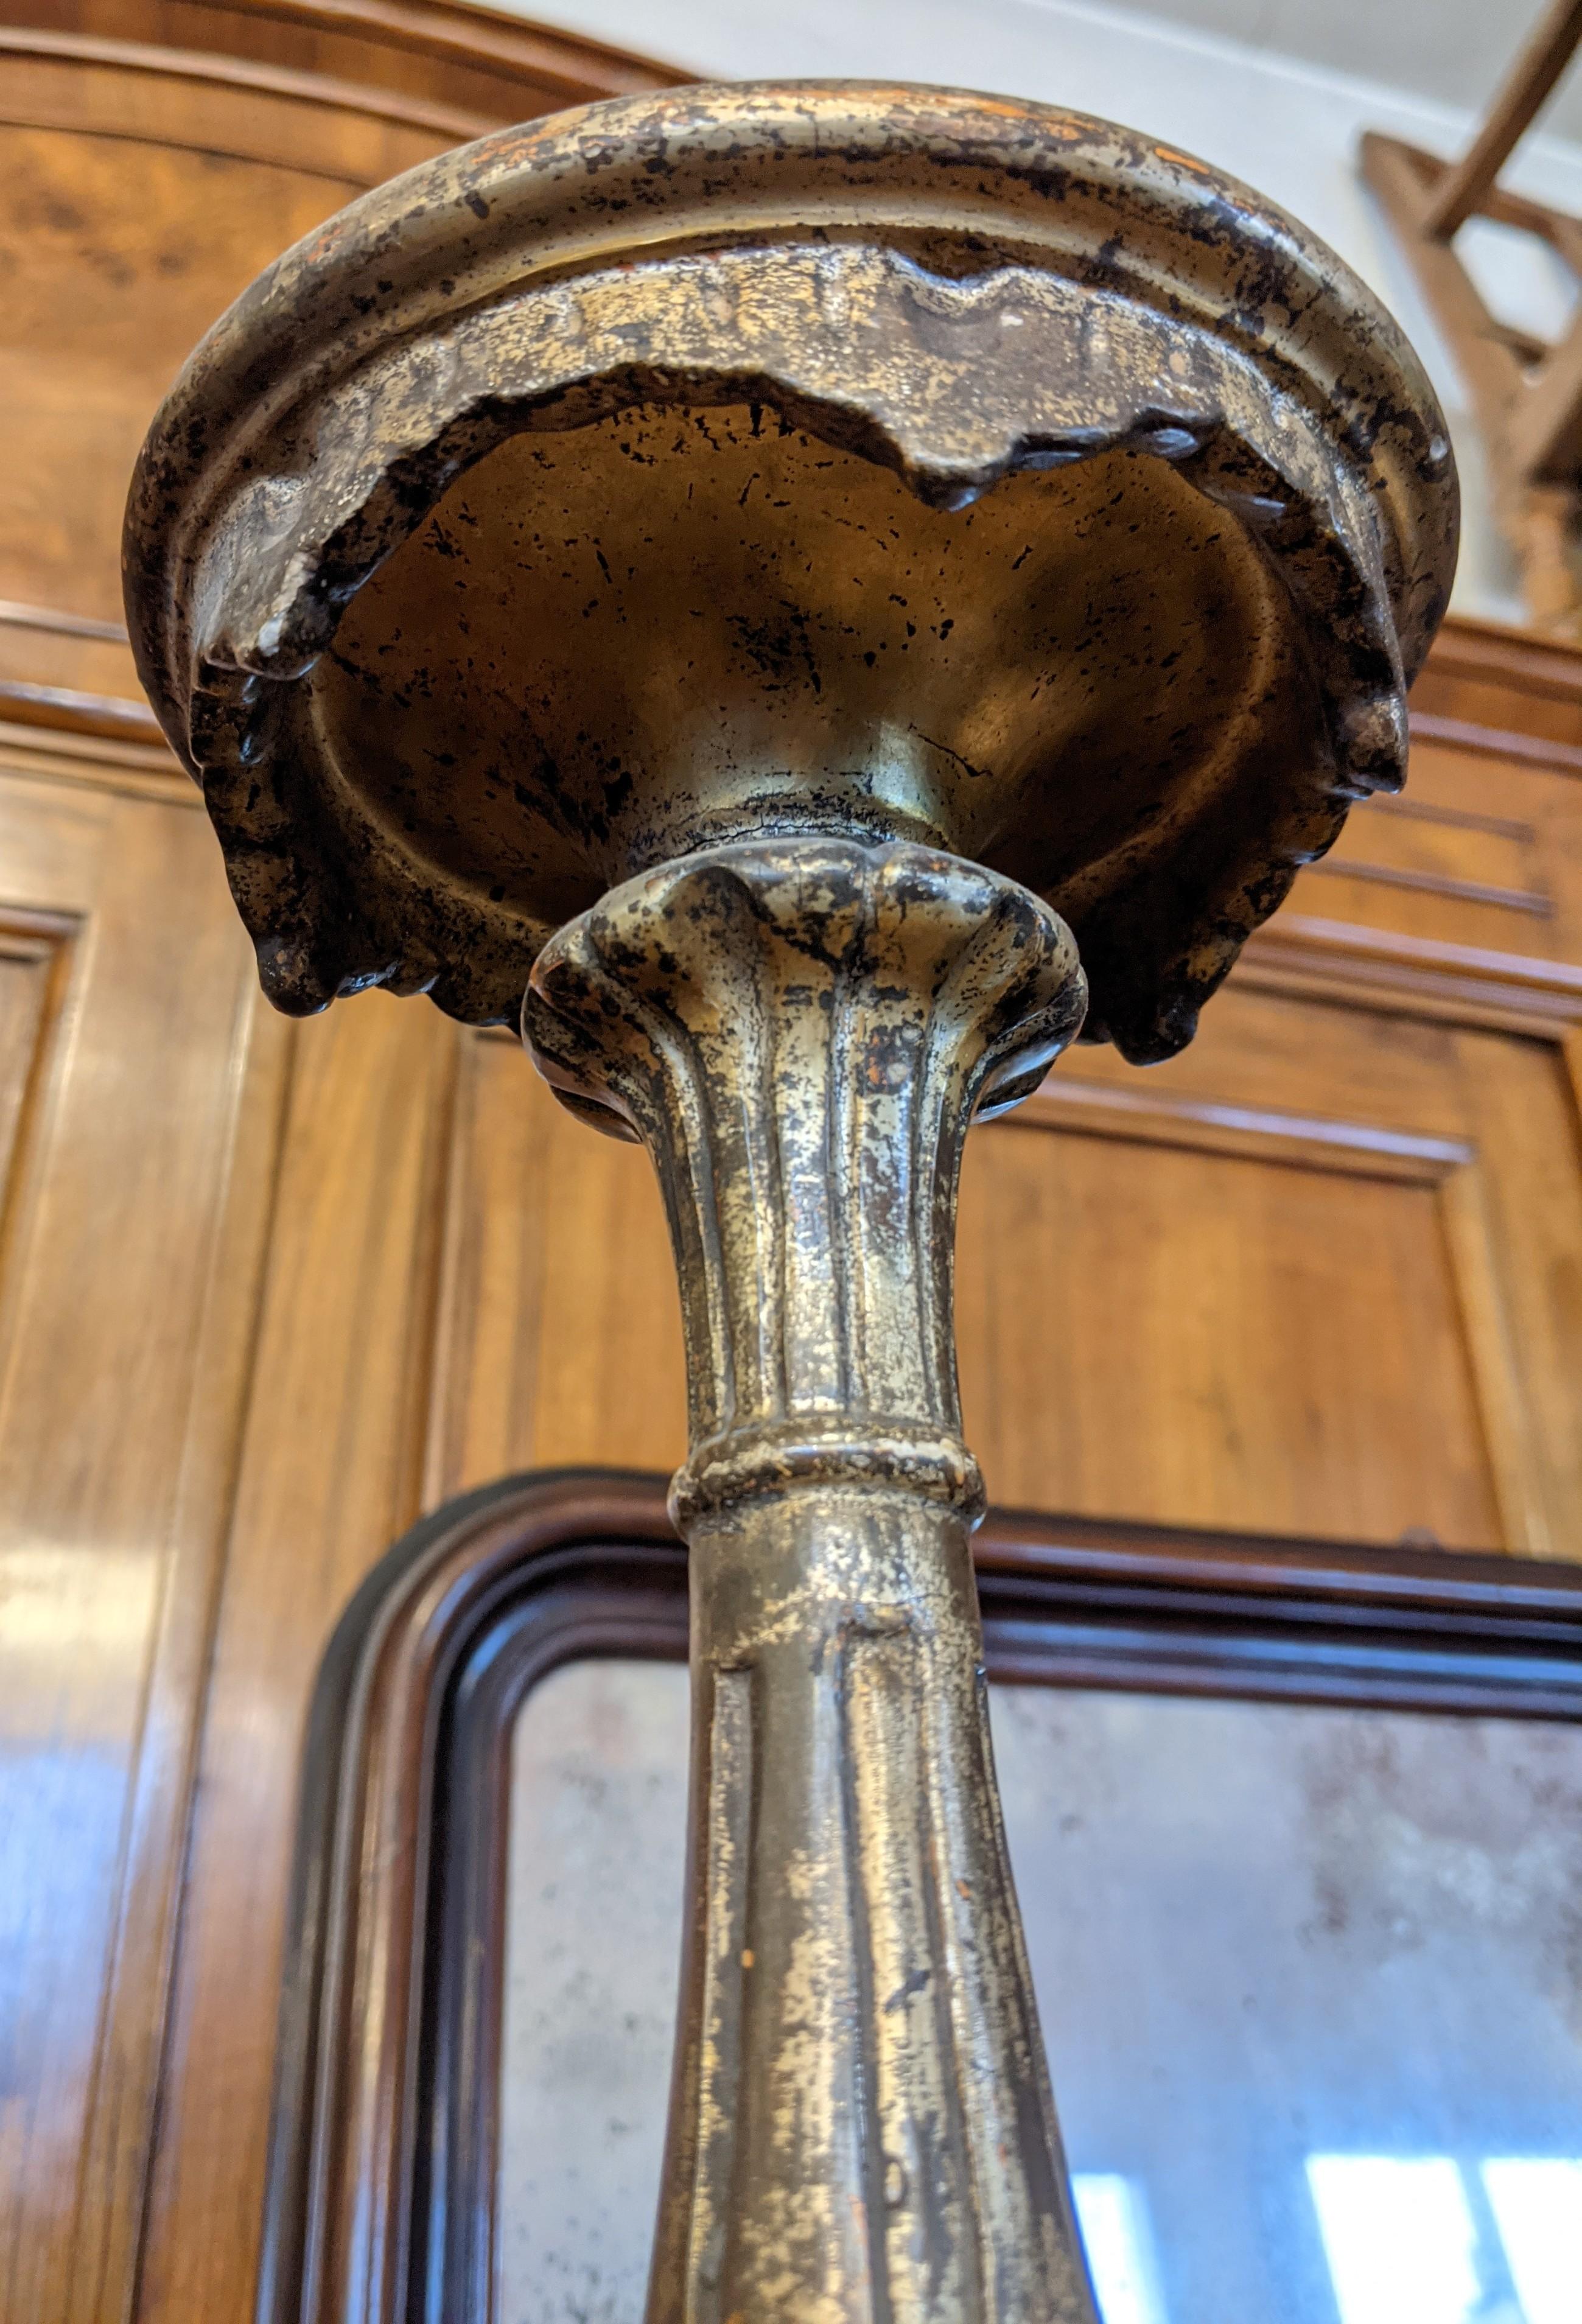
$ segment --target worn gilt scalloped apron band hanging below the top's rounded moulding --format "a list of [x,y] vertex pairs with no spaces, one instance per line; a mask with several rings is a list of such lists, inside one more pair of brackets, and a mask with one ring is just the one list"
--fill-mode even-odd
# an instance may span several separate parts
[[[204,676],[302,676],[332,641],[346,600],[451,483],[511,435],[592,425],[639,402],[757,400],[808,435],[894,469],[920,500],[941,507],[980,497],[1024,467],[1120,446],[1155,453],[1254,532],[1287,572],[1292,595],[1308,600],[1319,665],[1338,660],[1329,686],[1338,720],[1343,700],[1350,709],[1357,695],[1359,658],[1373,665],[1375,688],[1401,686],[1385,572],[1394,544],[1380,537],[1380,511],[1315,418],[1273,390],[1238,349],[1196,325],[1162,325],[1115,293],[1024,267],[939,281],[892,251],[850,244],[776,251],[778,297],[801,293],[811,318],[792,346],[783,330],[753,328],[750,293],[762,290],[764,270],[762,253],[727,251],[604,270],[574,290],[495,302],[432,351],[420,395],[409,349],[372,356],[304,418],[253,446],[251,462],[263,472],[232,474],[202,548],[190,544],[200,616],[190,662]],[[862,318],[869,328],[857,344],[846,309],[864,295],[871,309],[887,311]],[[827,323],[836,300],[841,318]],[[1031,321],[1034,330],[1017,339],[1015,393],[985,411],[992,376],[920,346],[908,349],[897,393],[897,325],[908,307],[929,307],[955,328],[1006,314],[1017,325]],[[1090,344],[1101,349],[1096,360]],[[623,346],[627,360],[616,360]],[[1048,370],[1031,360],[1041,351]],[[978,409],[964,418],[941,388],[969,383]],[[1336,551],[1350,567],[1350,614],[1340,611],[1347,586],[1324,590],[1317,572]],[[1385,762],[1385,779],[1389,762],[1398,772],[1394,737],[1359,748],[1354,732],[1336,732],[1336,748],[1343,760]]]

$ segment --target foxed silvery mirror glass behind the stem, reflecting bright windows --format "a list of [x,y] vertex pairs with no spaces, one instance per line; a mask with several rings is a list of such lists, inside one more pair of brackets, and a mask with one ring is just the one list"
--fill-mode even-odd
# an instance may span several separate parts
[[[994,1687],[1106,2324],[1577,2324],[1582,1724]],[[499,2324],[639,2324],[688,1673],[511,1741]]]

